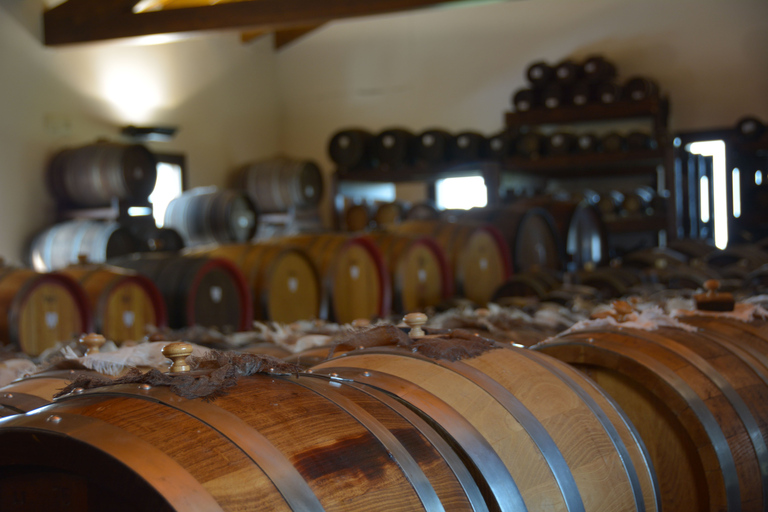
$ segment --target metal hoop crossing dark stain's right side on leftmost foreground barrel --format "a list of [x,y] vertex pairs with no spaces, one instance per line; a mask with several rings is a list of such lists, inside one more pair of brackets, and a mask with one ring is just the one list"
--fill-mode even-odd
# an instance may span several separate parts
[[281,380],[287,380],[317,393],[352,416],[352,418],[365,427],[382,444],[397,465],[400,466],[400,469],[410,482],[413,490],[416,491],[416,495],[419,497],[422,505],[424,505],[424,509],[428,511],[434,510],[436,512],[445,512],[445,508],[443,508],[443,504],[440,501],[440,498],[438,498],[435,489],[432,487],[429,478],[427,478],[419,464],[413,459],[408,450],[406,450],[400,441],[397,440],[392,432],[385,428],[368,411],[355,404],[349,398],[332,390],[328,384],[341,386],[340,383],[331,380],[322,382],[319,378],[322,377],[280,377]]

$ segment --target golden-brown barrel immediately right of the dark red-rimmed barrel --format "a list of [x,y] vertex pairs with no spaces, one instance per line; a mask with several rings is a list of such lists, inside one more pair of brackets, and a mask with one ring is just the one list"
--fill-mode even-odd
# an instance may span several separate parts
[[240,269],[253,297],[257,320],[290,323],[319,318],[322,283],[312,260],[295,247],[266,243],[203,247],[193,254],[224,258]]

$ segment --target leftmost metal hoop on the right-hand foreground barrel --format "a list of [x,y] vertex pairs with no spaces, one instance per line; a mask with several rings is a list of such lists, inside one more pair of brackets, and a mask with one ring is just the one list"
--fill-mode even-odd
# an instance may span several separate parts
[[[613,335],[627,334],[625,331],[622,331],[622,332],[594,331],[594,332],[579,332],[578,336],[589,337],[590,334],[594,335],[594,334],[606,334],[606,333],[613,334]],[[581,342],[578,340],[571,340],[571,341],[558,340],[552,343],[547,343],[547,346],[582,345],[586,347],[590,347],[590,346],[594,347],[596,346],[596,341],[597,340],[594,340],[592,338],[588,338],[588,341],[585,341],[585,342]],[[601,340],[601,341],[604,341],[604,340]],[[720,428],[720,424],[717,422],[717,419],[715,419],[714,415],[706,406],[704,401],[699,397],[699,395],[696,394],[696,391],[694,391],[694,389],[691,388],[688,385],[688,383],[685,380],[683,380],[679,375],[677,375],[674,371],[670,370],[668,367],[659,363],[653,357],[639,350],[625,347],[617,343],[609,342],[610,345],[615,345],[617,347],[616,349],[611,349],[610,346],[605,347],[603,345],[603,342],[599,342],[599,343],[604,350],[618,352],[620,354],[626,355],[627,357],[630,357],[635,361],[637,361],[638,363],[642,364],[646,368],[651,369],[651,371],[656,373],[667,385],[673,388],[678,393],[678,395],[680,395],[683,398],[683,400],[685,400],[685,402],[690,407],[691,411],[694,413],[696,418],[701,423],[701,426],[704,428],[704,431],[707,433],[707,436],[709,436],[710,441],[712,442],[712,447],[715,450],[715,455],[717,456],[717,460],[720,463],[721,474],[723,477],[723,484],[725,486],[726,501],[728,503],[728,510],[730,512],[740,512],[741,497],[740,497],[740,490],[739,490],[739,479],[736,474],[736,462],[733,459],[731,448],[728,445],[728,440],[725,438],[725,435],[723,434],[723,431]]]

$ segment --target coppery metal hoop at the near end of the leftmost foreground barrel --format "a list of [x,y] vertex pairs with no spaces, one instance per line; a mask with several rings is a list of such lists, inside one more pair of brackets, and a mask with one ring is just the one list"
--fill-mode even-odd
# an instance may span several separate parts
[[176,510],[217,511],[221,506],[178,462],[163,451],[105,421],[60,413],[55,405],[0,420],[3,430],[63,434],[111,455],[151,485]]

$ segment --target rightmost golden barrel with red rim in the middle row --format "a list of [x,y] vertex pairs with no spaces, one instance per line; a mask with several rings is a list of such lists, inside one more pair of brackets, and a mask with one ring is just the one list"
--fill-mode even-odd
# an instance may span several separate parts
[[509,251],[497,229],[487,224],[406,221],[393,233],[429,236],[445,252],[453,273],[455,292],[486,304],[511,274]]

